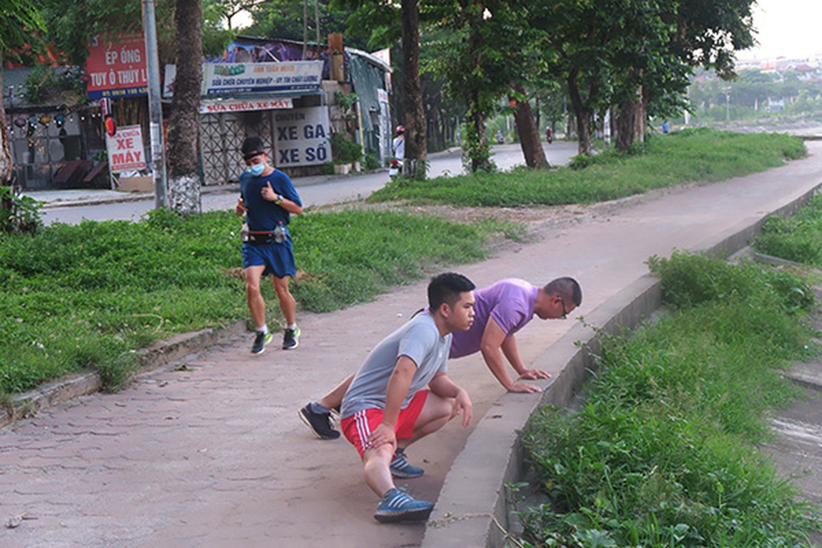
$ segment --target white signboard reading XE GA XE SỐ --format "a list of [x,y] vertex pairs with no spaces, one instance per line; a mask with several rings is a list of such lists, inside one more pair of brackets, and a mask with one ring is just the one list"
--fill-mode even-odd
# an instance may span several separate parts
[[328,108],[293,108],[275,113],[274,119],[278,168],[330,162]]

